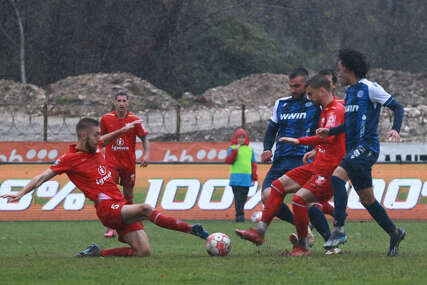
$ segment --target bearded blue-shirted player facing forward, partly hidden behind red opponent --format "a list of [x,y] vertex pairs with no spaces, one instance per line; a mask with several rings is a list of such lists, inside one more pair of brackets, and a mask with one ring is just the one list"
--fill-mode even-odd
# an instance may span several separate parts
[[[270,191],[271,183],[284,173],[303,165],[303,157],[308,146],[292,145],[279,142],[280,137],[299,138],[311,136],[317,128],[320,108],[313,105],[305,95],[305,82],[308,72],[305,68],[296,68],[289,74],[291,96],[278,99],[273,108],[267,131],[264,136],[264,151],[261,160],[268,162],[273,158],[273,164],[262,184],[262,201],[265,203]],[[276,143],[274,157],[271,149]],[[277,213],[281,220],[294,223],[294,216],[286,204],[282,204]]]

